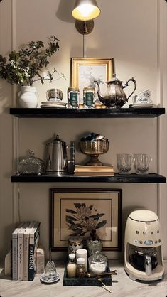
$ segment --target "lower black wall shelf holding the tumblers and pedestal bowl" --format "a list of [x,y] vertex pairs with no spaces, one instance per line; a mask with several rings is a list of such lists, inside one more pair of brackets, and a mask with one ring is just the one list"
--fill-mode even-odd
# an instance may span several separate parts
[[114,176],[75,176],[75,175],[12,175],[12,183],[166,183],[166,177],[149,173],[138,175],[131,173]]

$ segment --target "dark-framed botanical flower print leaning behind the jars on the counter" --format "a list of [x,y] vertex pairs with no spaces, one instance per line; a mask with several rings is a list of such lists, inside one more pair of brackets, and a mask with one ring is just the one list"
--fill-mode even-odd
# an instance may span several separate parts
[[122,248],[121,189],[50,189],[50,248],[68,248],[70,236],[85,240],[92,232],[103,250]]

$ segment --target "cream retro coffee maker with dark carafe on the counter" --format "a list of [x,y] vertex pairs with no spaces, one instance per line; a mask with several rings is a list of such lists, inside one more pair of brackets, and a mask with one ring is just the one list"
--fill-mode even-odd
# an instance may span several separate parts
[[136,210],[127,219],[124,269],[134,281],[158,281],[163,278],[161,226],[151,210]]

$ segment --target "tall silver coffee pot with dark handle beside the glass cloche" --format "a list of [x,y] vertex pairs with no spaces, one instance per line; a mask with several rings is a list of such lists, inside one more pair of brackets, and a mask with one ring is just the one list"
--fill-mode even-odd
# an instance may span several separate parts
[[[67,145],[65,141],[61,140],[58,134],[56,134],[51,141],[47,142],[46,146],[45,173],[49,175],[73,173],[75,166],[75,142],[72,142],[71,145]],[[69,161],[67,148],[72,149],[72,156]],[[68,163],[70,163],[69,166]]]

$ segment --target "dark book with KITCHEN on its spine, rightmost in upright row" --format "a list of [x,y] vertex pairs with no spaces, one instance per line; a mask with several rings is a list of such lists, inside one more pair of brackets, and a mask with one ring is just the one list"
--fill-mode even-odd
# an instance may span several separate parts
[[39,227],[37,227],[36,232],[33,237],[30,238],[29,244],[29,258],[28,258],[28,281],[33,281],[34,275],[36,273],[36,247],[39,241]]

